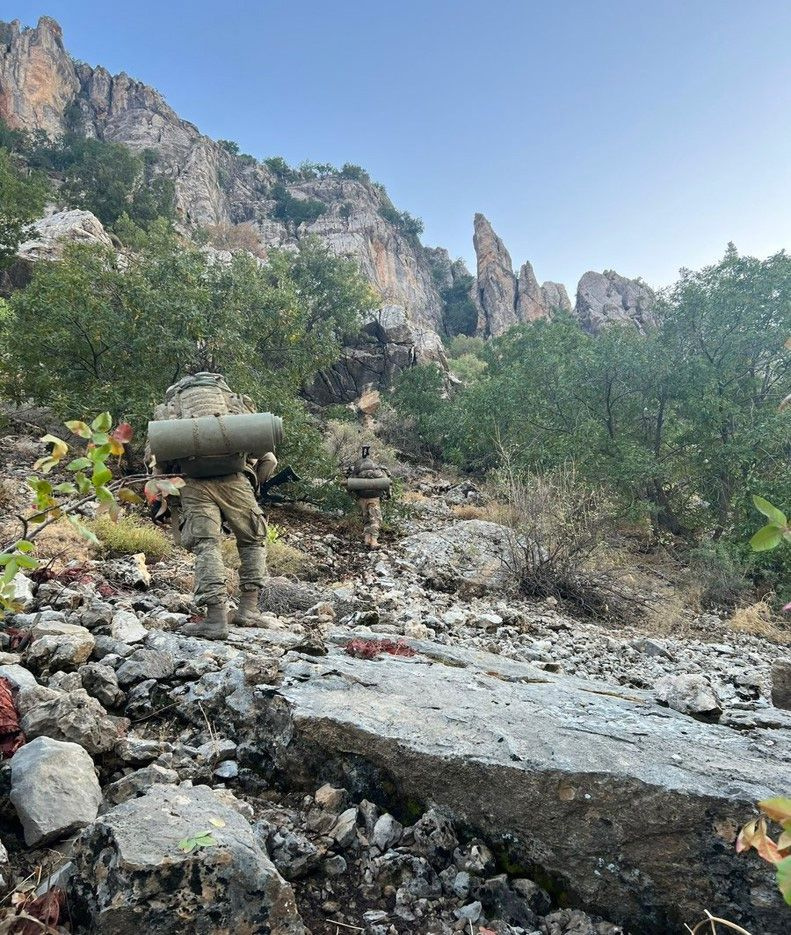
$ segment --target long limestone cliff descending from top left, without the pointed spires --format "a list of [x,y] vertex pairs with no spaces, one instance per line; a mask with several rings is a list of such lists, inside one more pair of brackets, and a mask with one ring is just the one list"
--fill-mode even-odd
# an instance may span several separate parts
[[[0,117],[11,126],[43,129],[51,136],[77,129],[136,152],[153,150],[156,171],[174,182],[177,215],[185,226],[244,222],[258,235],[262,248],[287,247],[315,235],[337,255],[356,259],[382,304],[403,308],[418,331],[433,332],[427,343],[440,345],[443,303],[430,256],[386,216],[392,205],[371,182],[339,175],[276,178],[265,165],[201,134],[153,88],[126,74],[75,65],[63,46],[60,27],[46,17],[34,29],[20,30],[16,21],[0,23]],[[296,225],[276,218],[272,188],[278,182],[293,198],[319,201],[327,210],[312,222]],[[96,236],[101,239],[98,232]],[[48,248],[25,246],[29,259],[52,258]],[[379,358],[371,368],[380,374],[391,372],[387,353]]]

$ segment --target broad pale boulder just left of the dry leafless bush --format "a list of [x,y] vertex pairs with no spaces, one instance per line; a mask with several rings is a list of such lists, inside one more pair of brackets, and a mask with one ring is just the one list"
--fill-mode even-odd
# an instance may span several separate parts
[[453,590],[467,585],[489,590],[510,581],[507,562],[511,541],[507,527],[471,519],[408,536],[401,548],[433,587]]

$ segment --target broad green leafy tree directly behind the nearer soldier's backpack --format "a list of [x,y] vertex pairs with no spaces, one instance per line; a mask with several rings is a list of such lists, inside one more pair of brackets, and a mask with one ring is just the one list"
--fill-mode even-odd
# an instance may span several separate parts
[[272,251],[265,266],[243,254],[224,265],[159,221],[123,263],[75,244],[37,265],[10,302],[4,393],[61,413],[90,398],[144,428],[170,383],[215,370],[259,408],[304,425],[318,452],[299,390],[337,358],[374,298],[354,263],[316,242]]

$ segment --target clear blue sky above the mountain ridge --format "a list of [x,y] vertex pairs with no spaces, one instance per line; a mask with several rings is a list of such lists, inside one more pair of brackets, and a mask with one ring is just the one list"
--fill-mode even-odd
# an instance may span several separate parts
[[791,246],[789,0],[7,0],[264,158],[355,162],[423,241],[654,285]]

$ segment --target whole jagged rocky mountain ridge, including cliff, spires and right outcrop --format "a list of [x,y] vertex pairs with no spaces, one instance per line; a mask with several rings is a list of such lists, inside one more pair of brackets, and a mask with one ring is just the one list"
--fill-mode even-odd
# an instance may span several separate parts
[[[321,401],[353,398],[366,384],[383,385],[414,362],[445,364],[441,292],[469,274],[446,250],[423,247],[402,229],[384,189],[367,178],[279,178],[265,164],[203,135],[148,85],[75,62],[60,25],[50,17],[33,28],[18,20],[0,22],[0,117],[52,137],[77,129],[138,152],[154,150],[158,171],[174,181],[177,215],[188,230],[246,223],[264,248],[316,235],[335,253],[355,257],[382,297],[387,327],[380,327],[382,310],[372,312],[358,344],[317,381]],[[299,224],[279,220],[273,199],[278,184],[292,198],[321,202],[324,213]],[[576,311],[592,332],[610,320],[635,320],[641,328],[648,320],[652,298],[639,282],[588,272],[572,309],[565,288],[553,282],[539,286],[529,262],[514,274],[508,251],[483,215],[475,217],[474,245],[477,279],[471,298],[482,336],[496,337],[558,309]],[[389,341],[393,330],[395,344]]]

